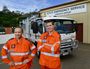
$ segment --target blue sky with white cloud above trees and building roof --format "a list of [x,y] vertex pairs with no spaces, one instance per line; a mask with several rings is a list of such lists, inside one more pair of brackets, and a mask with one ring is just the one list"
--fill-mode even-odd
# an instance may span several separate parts
[[0,0],[0,11],[7,6],[10,11],[21,11],[24,13],[34,10],[63,4],[73,0]]

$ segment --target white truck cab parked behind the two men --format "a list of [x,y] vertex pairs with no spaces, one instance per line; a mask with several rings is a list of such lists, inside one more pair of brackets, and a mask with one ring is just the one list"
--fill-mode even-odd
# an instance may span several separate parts
[[75,21],[73,19],[65,17],[43,17],[31,18],[29,21],[30,39],[33,42],[37,42],[40,35],[46,31],[44,23],[46,21],[53,21],[56,31],[61,35],[61,55],[72,54],[78,48]]

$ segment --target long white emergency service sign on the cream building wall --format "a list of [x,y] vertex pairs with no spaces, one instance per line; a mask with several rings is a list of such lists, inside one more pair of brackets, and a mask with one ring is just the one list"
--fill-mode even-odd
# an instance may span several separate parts
[[87,4],[80,4],[76,6],[66,7],[62,9],[56,9],[42,13],[43,16],[62,16],[68,14],[87,12]]

